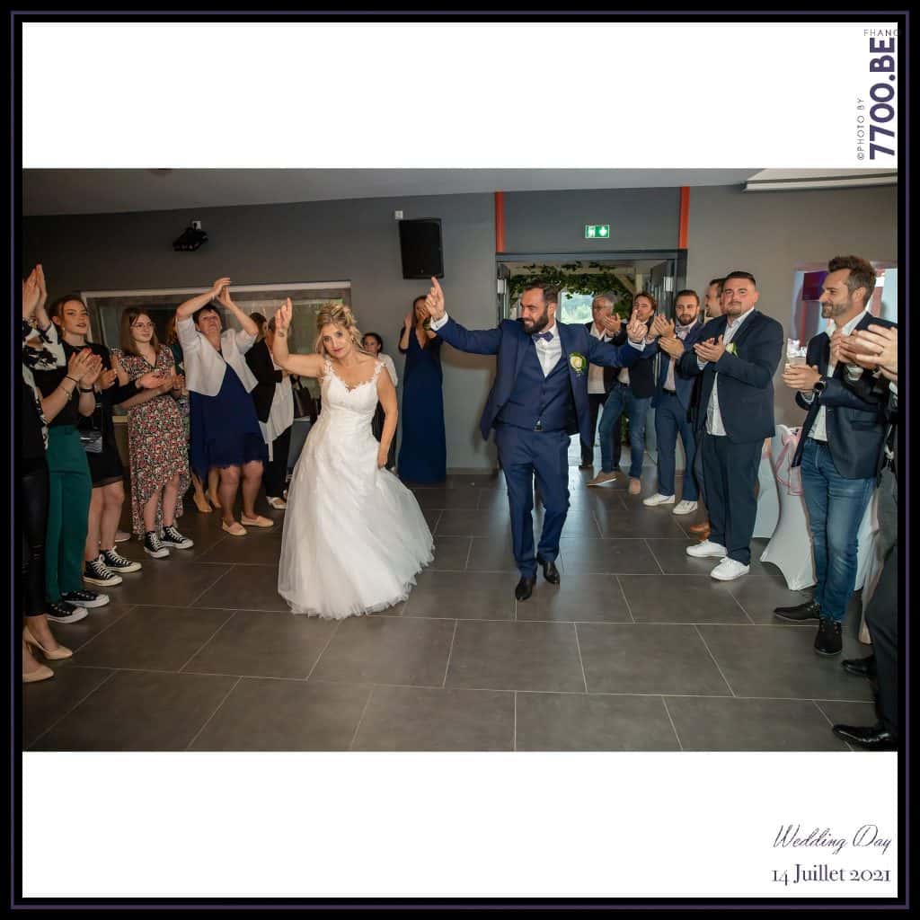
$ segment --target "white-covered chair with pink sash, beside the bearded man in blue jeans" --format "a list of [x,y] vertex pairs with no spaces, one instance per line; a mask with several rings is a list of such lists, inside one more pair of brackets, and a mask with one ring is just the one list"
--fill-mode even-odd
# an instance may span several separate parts
[[770,542],[761,553],[761,562],[772,562],[783,573],[790,591],[801,591],[815,584],[814,552],[808,513],[801,493],[799,470],[791,469],[799,443],[800,428],[776,426],[771,454],[776,476],[779,520]]

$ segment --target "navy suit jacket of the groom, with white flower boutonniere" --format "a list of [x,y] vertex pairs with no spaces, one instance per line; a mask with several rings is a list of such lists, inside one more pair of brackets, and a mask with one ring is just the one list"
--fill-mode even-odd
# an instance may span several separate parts
[[[569,363],[569,387],[575,406],[576,421],[572,426],[574,434],[578,431],[584,442],[590,440],[591,413],[588,407],[588,368],[576,371],[570,362],[573,354],[581,354],[586,362],[600,364],[604,367],[631,367],[635,364],[642,352],[627,344],[620,348],[609,342],[595,339],[583,326],[571,326],[557,321],[559,342],[562,345],[562,360]],[[468,351],[471,354],[498,355],[498,364],[495,373],[495,382],[489,391],[486,408],[483,409],[479,421],[479,430],[488,440],[489,431],[494,427],[496,417],[502,406],[508,402],[512,394],[514,383],[520,372],[527,349],[535,349],[534,339],[527,335],[521,320],[502,320],[494,329],[466,329],[454,319],[448,318],[443,327],[439,328],[438,335],[453,345],[458,351]]]

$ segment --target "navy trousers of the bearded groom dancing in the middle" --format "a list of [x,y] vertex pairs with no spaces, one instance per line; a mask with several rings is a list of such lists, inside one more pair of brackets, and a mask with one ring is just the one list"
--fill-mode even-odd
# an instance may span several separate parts
[[[497,425],[495,443],[508,484],[514,560],[523,578],[536,575],[536,558],[554,561],[569,513],[569,435],[565,431],[527,431]],[[534,552],[534,476],[544,518]]]

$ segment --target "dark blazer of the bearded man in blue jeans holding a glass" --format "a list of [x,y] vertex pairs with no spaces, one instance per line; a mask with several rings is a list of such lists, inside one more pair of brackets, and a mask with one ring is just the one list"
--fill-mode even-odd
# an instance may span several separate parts
[[[866,314],[857,323],[857,329],[869,325],[891,327],[894,323]],[[831,358],[831,339],[826,332],[814,336],[808,343],[806,362],[809,367],[817,367],[822,377],[826,377],[827,365]],[[827,379],[827,386],[821,393],[816,393],[809,403],[800,393],[796,402],[808,411],[802,424],[799,449],[792,458],[792,466],[799,466],[802,451],[809,432],[814,426],[818,410],[823,406],[824,422],[827,430],[827,447],[834,459],[837,472],[847,479],[868,479],[878,471],[879,454],[885,442],[887,420],[884,403],[887,397],[876,392],[871,385],[867,388],[853,388],[845,385],[846,370],[843,363],[834,368],[834,375]],[[862,376],[867,381],[873,379],[873,372],[864,370]],[[885,380],[887,388],[888,381]],[[860,396],[859,394],[863,395]],[[884,453],[882,452],[882,455]]]

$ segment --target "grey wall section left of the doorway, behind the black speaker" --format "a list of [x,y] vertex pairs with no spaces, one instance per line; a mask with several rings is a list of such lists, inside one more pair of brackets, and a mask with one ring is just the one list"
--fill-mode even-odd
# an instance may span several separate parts
[[[238,283],[351,281],[360,327],[384,337],[401,378],[397,332],[429,283],[402,278],[397,209],[442,218],[447,303],[472,328],[494,326],[495,215],[492,196],[482,194],[27,218],[24,274],[41,262],[52,298],[204,286],[222,275]],[[209,241],[197,252],[173,252],[192,219],[201,219]],[[448,348],[443,356],[448,466],[490,466],[491,448],[477,431],[494,359]]]

